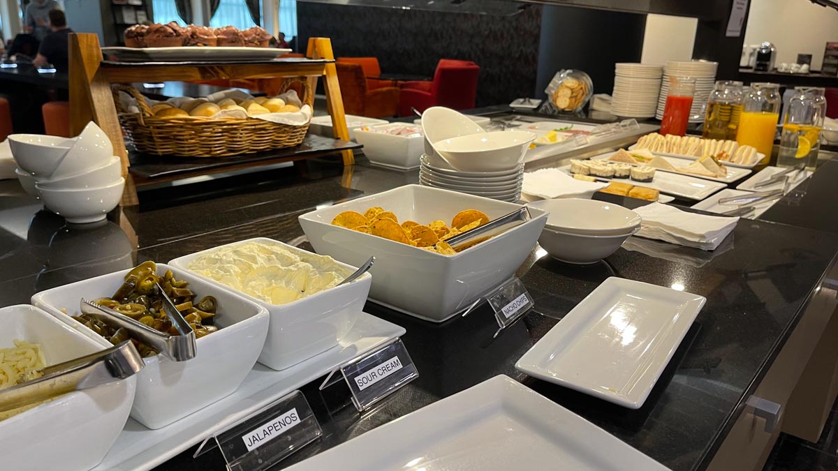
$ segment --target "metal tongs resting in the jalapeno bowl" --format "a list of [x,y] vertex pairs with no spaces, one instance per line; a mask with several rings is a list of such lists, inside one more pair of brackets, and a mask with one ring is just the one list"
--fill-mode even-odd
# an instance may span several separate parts
[[[161,291],[161,293],[163,292]],[[163,294],[163,296],[165,296],[165,294]],[[172,312],[174,312],[174,314],[172,314]],[[181,333],[180,335],[169,335],[164,334],[163,332],[158,332],[142,322],[138,322],[124,314],[117,313],[111,308],[91,303],[86,299],[81,300],[81,313],[91,316],[92,318],[99,319],[104,323],[126,329],[129,336],[137,339],[143,344],[147,344],[149,347],[160,352],[161,355],[166,355],[166,358],[169,360],[191,360],[197,353],[197,347],[195,346],[195,333],[192,328],[189,327],[189,323],[186,322],[184,316],[178,313],[178,310],[174,308],[174,304],[171,300],[168,301],[166,306],[166,316],[172,320],[174,328],[178,330],[178,333]],[[178,321],[176,320],[178,317],[183,321],[183,324],[186,325],[186,329],[188,329],[186,334],[182,333],[183,324],[178,325]]]

